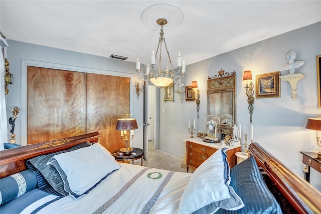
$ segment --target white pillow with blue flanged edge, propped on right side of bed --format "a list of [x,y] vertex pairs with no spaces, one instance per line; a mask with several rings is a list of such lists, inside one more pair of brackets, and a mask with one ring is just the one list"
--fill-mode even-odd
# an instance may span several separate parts
[[229,185],[226,149],[217,150],[194,171],[182,195],[178,213],[214,213],[219,208],[237,210],[244,206]]

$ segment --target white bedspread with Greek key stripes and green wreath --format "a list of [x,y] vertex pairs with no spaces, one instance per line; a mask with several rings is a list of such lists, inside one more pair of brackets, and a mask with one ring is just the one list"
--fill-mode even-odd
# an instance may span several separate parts
[[[66,196],[37,213],[176,213],[191,173],[171,172],[138,165],[120,164],[87,195]],[[49,195],[29,205],[31,213],[57,196]]]

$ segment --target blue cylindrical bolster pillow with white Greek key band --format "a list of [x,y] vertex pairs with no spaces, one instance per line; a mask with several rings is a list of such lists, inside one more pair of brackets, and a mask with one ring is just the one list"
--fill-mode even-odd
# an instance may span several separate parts
[[37,187],[37,177],[25,170],[0,179],[0,205]]

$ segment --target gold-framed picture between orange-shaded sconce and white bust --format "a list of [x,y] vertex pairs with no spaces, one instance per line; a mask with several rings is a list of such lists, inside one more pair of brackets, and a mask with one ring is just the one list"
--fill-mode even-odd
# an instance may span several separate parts
[[280,97],[280,71],[256,75],[255,97]]

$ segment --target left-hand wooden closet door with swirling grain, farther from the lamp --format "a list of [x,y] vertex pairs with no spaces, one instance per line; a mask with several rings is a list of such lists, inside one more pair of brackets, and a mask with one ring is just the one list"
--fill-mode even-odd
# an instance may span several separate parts
[[86,133],[86,73],[28,66],[28,144]]

